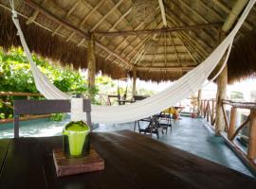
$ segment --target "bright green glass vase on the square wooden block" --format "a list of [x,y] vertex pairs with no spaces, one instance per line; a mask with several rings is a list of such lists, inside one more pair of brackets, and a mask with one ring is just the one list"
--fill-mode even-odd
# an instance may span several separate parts
[[67,157],[83,157],[90,151],[90,127],[82,121],[64,127],[63,147]]

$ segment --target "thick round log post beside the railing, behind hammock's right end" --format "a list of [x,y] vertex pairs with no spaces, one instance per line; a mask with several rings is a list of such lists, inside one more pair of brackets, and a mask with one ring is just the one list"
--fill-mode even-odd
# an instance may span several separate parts
[[[229,32],[230,28],[235,23],[237,17],[241,13],[241,11],[247,5],[247,0],[237,0],[233,5],[232,10],[229,12],[229,16],[227,17],[224,25],[222,26],[223,37],[224,39],[227,32]],[[235,12],[235,13],[234,13]],[[224,59],[223,59],[224,60]],[[219,63],[222,65],[223,60]],[[220,66],[221,67],[221,66]],[[222,112],[222,100],[227,97],[227,86],[228,86],[228,66],[226,65],[220,76],[217,78],[217,96],[216,96],[216,125],[215,125],[215,134],[219,134],[220,131],[225,129],[225,118]]]

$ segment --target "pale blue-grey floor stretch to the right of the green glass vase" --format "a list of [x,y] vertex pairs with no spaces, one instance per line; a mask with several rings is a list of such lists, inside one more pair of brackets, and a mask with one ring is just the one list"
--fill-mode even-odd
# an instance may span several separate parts
[[[158,141],[254,177],[247,166],[227,146],[224,139],[214,135],[204,119],[182,117],[179,121],[172,121],[172,124],[173,130],[168,129],[167,134],[160,132]],[[134,123],[101,124],[95,131],[115,131],[121,129],[134,130]],[[157,140],[155,134],[153,134],[152,138]]]

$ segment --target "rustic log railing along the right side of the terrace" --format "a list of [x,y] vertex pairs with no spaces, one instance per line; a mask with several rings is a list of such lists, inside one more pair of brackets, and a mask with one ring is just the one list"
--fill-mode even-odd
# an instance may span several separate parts
[[[200,100],[200,115],[206,119],[212,129],[215,129],[215,106],[215,99]],[[227,115],[228,106],[230,108],[229,116]],[[249,112],[247,119],[240,126],[237,126],[238,112],[240,112],[238,109],[247,110]],[[225,119],[225,130],[221,135],[241,160],[247,164],[250,170],[256,173],[256,102],[222,100],[222,112]],[[247,151],[243,150],[234,140],[246,126],[249,127]]]

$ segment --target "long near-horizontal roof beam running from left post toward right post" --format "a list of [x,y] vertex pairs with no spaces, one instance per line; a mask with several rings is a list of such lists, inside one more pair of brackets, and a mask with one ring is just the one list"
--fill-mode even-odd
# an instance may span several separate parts
[[202,25],[192,25],[192,26],[174,26],[174,27],[163,27],[159,29],[141,29],[141,30],[126,30],[126,31],[113,31],[113,32],[93,32],[96,36],[129,36],[129,35],[145,35],[145,34],[155,34],[161,32],[174,32],[174,31],[185,31],[185,30],[198,30],[209,27],[219,27],[222,23],[210,23]]

